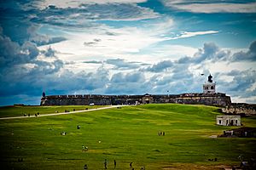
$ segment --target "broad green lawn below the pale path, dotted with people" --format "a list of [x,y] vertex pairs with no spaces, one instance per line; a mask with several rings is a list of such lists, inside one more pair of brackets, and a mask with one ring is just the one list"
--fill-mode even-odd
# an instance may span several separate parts
[[[44,108],[39,110],[43,113]],[[113,169],[113,160],[116,169],[129,169],[130,162],[135,169],[145,166],[147,170],[218,169],[238,165],[240,155],[245,159],[255,156],[256,139],[209,138],[234,128],[215,125],[220,115],[217,110],[203,105],[139,105],[0,120],[1,167],[83,169],[87,164],[97,170],[104,169],[107,159],[108,169]],[[256,127],[256,117],[241,122]],[[160,131],[166,135],[159,136]],[[82,145],[89,150],[82,151]],[[208,161],[215,157],[218,161]],[[20,158],[23,161],[18,161]]]

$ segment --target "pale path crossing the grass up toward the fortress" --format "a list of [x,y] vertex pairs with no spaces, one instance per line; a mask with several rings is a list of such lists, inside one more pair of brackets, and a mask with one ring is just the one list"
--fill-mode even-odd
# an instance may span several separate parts
[[[123,107],[126,105],[110,105],[107,107],[101,107],[101,108],[96,108],[96,109],[90,109],[90,110],[83,110],[83,111],[71,111],[71,112],[62,112],[62,113],[50,113],[50,114],[44,114],[44,115],[39,115],[37,117],[41,116],[59,116],[59,115],[69,115],[73,113],[80,113],[80,112],[87,112],[87,111],[99,111],[99,110],[104,110],[104,109],[111,109],[111,108],[117,108],[117,107]],[[7,119],[22,119],[22,118],[31,118],[31,117],[36,117],[36,116],[13,116],[13,117],[1,117],[0,120],[7,120]]]

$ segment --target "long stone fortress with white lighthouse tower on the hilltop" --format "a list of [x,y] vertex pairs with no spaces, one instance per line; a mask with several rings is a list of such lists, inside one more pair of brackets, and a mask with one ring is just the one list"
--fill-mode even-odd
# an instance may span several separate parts
[[49,95],[43,93],[40,105],[139,105],[139,104],[192,104],[192,105],[231,105],[230,96],[216,93],[216,83],[212,76],[203,84],[203,93],[189,94],[144,94],[144,95]]

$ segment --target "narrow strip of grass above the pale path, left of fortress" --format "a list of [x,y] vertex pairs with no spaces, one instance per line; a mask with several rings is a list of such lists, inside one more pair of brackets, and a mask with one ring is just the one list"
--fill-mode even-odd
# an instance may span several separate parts
[[35,115],[35,113],[49,114],[55,113],[55,111],[65,112],[67,111],[82,111],[85,108],[95,109],[103,107],[103,105],[61,105],[61,106],[2,106],[0,107],[0,117],[8,117],[8,116],[23,116],[24,114]]

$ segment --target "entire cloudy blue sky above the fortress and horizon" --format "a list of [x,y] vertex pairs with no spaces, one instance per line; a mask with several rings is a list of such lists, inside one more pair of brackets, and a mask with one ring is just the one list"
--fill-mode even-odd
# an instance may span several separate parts
[[2,0],[0,13],[0,105],[202,93],[209,74],[256,103],[255,0]]

